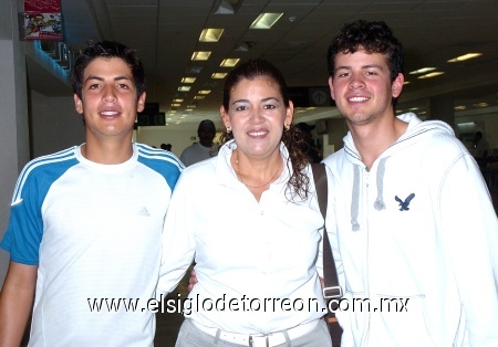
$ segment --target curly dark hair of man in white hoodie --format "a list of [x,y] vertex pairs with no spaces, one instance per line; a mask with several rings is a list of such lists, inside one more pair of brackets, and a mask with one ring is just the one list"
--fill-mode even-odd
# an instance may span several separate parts
[[[357,20],[347,23],[332,40],[326,54],[329,75],[334,77],[334,59],[338,53],[355,53],[364,50],[366,53],[382,53],[387,56],[391,82],[404,72],[404,51],[401,42],[394,36],[393,31],[383,21],[369,22]],[[393,105],[397,98],[393,98]]]

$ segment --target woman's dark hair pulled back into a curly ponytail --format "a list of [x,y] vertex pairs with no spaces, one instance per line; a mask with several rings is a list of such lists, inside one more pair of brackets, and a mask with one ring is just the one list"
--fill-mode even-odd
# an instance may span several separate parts
[[[238,65],[225,80],[222,107],[227,113],[229,109],[231,91],[237,86],[237,84],[242,80],[255,80],[260,76],[272,80],[279,86],[280,94],[283,98],[283,104],[286,107],[289,106],[289,91],[282,73],[269,61],[253,59]],[[221,135],[220,141],[221,144],[225,144],[232,138],[234,134],[225,130]],[[300,135],[299,129],[297,129],[293,124],[290,124],[289,129],[283,129],[281,141],[289,150],[287,167],[289,169],[292,168],[292,175],[286,187],[286,196],[289,201],[294,201],[295,197],[305,200],[309,193],[310,179],[305,174],[305,168],[309,161],[305,154],[300,150],[299,144],[301,138],[302,136]]]

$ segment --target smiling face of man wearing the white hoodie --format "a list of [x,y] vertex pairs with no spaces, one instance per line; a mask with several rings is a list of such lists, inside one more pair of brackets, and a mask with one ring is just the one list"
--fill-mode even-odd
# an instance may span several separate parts
[[355,53],[335,55],[333,78],[329,78],[331,96],[350,125],[364,125],[394,116],[392,98],[401,94],[403,75],[391,83],[385,54]]

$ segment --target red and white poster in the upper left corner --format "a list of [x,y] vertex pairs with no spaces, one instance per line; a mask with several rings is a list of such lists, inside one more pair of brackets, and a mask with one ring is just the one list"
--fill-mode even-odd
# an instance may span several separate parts
[[25,40],[62,40],[61,0],[24,0]]

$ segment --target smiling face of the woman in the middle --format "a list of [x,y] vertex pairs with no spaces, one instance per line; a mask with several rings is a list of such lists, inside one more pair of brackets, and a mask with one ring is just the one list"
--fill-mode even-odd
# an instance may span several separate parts
[[283,103],[279,86],[266,76],[241,80],[230,91],[228,109],[221,119],[231,128],[239,153],[269,157],[279,149],[284,126],[292,122],[293,105]]

